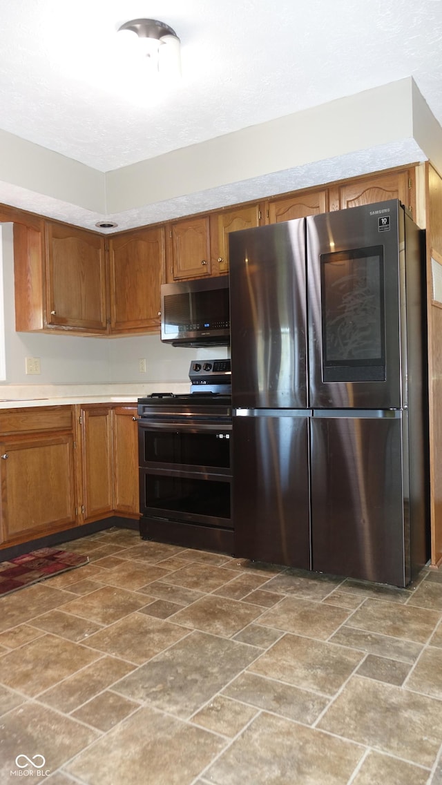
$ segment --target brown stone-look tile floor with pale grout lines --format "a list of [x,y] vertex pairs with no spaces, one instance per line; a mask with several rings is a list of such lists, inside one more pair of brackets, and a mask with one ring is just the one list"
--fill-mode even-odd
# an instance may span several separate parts
[[2,785],[442,785],[440,571],[65,547],[89,564],[0,600]]

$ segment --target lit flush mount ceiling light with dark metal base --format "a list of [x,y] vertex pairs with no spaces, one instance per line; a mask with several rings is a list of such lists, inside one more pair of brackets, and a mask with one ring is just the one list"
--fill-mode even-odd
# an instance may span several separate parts
[[[155,19],[133,19],[119,32],[135,33],[148,71],[161,77],[181,75],[180,39],[172,27]],[[129,36],[128,36],[129,38]],[[133,36],[130,36],[133,39]]]

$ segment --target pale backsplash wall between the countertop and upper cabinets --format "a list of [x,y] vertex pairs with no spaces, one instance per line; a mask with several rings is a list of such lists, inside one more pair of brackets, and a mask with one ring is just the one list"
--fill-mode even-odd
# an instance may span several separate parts
[[[2,229],[5,298],[6,379],[0,385],[97,385],[187,382],[194,358],[228,357],[228,349],[182,349],[164,345],[159,335],[134,338],[79,338],[73,335],[16,333],[13,276],[13,225]],[[0,340],[2,338],[0,337]],[[25,373],[26,357],[38,357],[41,373]],[[140,373],[139,360],[146,360]]]

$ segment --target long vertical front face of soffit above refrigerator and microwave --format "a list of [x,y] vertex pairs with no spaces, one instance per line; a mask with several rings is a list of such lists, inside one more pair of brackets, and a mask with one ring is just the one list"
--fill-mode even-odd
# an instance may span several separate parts
[[411,77],[400,79],[122,166],[106,173],[108,211],[119,214],[410,139],[412,99],[420,95],[413,85]]

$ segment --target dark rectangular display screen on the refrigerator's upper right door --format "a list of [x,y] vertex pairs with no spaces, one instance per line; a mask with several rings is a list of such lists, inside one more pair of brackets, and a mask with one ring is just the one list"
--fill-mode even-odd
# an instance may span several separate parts
[[385,378],[382,246],[321,255],[323,381]]

